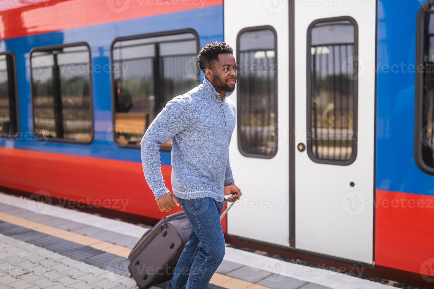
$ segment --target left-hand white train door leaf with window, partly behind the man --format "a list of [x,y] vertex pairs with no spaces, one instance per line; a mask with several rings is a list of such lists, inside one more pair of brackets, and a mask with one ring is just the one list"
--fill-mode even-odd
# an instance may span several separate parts
[[224,39],[238,64],[230,162],[243,198],[230,235],[289,246],[288,3],[224,1]]

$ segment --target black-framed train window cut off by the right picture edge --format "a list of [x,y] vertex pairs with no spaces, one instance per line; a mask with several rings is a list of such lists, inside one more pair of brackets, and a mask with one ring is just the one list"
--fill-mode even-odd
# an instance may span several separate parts
[[418,14],[415,93],[415,160],[434,174],[434,9],[427,1]]

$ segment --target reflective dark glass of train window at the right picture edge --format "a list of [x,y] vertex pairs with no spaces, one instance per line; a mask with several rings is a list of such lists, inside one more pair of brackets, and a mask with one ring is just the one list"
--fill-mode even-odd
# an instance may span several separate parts
[[427,8],[424,12],[424,35],[421,36],[420,51],[421,62],[424,64],[423,78],[418,75],[420,91],[417,97],[416,120],[419,128],[419,135],[416,138],[415,146],[419,146],[418,162],[423,162],[427,171],[434,172],[434,11]]

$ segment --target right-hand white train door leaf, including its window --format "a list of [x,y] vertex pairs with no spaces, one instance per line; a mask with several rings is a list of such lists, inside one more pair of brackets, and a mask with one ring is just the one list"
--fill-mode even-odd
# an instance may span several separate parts
[[295,6],[295,247],[373,263],[375,1]]

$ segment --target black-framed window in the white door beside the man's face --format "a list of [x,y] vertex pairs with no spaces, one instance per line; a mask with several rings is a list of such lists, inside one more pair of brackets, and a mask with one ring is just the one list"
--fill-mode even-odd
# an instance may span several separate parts
[[271,26],[238,33],[238,149],[244,156],[272,158],[277,153],[276,49]]

